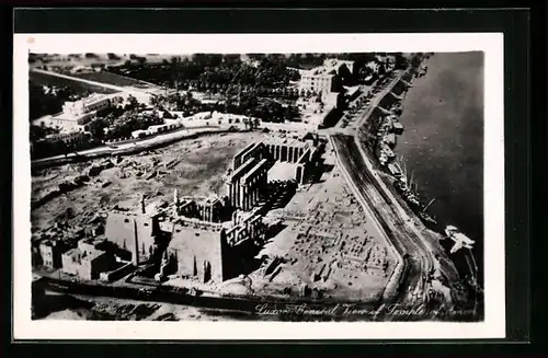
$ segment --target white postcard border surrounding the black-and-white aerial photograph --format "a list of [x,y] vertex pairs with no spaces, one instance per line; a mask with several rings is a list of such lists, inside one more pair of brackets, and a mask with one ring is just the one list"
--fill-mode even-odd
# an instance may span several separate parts
[[[27,42],[32,38],[32,42]],[[484,51],[484,292],[481,323],[90,322],[31,320],[27,53]],[[14,339],[503,338],[503,35],[467,34],[15,34],[13,120]]]

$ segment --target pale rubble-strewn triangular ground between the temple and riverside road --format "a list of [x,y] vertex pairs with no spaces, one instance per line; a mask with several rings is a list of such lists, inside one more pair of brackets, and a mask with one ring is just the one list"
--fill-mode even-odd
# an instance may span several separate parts
[[336,166],[298,192],[278,216],[289,220],[258,255],[270,261],[250,275],[255,292],[295,295],[308,288],[331,298],[380,298],[395,257]]

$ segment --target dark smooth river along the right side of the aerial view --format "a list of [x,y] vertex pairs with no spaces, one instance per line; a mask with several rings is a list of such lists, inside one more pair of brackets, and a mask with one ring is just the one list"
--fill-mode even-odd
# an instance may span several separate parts
[[[416,178],[427,209],[476,240],[482,281],[483,256],[483,54],[439,53],[424,62],[403,100],[406,130],[396,152]],[[445,243],[444,243],[445,245]],[[457,266],[458,265],[458,257]]]

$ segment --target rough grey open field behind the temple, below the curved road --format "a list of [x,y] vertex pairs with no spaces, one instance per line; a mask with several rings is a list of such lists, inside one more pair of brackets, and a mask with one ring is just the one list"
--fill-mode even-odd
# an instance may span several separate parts
[[[181,196],[222,194],[221,175],[232,157],[260,136],[263,135],[246,132],[202,137],[180,141],[148,153],[125,157],[113,168],[92,177],[88,185],[56,197],[34,209],[31,212],[33,231],[50,227],[56,217],[65,212],[73,213],[68,221],[70,224],[81,224],[90,216],[105,211],[114,205],[135,207],[140,194],[151,197],[149,203],[172,200],[175,188]],[[48,189],[56,187],[59,181],[82,174],[92,163],[104,160],[66,164],[38,172],[32,178],[32,197],[42,197]],[[165,169],[163,164],[169,162],[175,164]],[[147,180],[147,175],[155,171],[158,171],[158,175]],[[111,184],[102,187],[107,181]]]

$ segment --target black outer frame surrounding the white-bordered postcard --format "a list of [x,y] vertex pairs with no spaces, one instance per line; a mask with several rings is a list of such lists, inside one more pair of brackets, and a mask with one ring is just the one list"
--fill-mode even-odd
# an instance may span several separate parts
[[[537,10],[538,11],[538,10]],[[540,10],[540,12],[543,12]],[[537,70],[539,63],[543,63],[546,54],[530,57],[532,46],[529,45],[529,21],[535,15],[527,9],[515,10],[479,10],[468,9],[457,11],[433,11],[433,10],[365,10],[365,9],[316,9],[316,10],[296,10],[279,9],[260,10],[260,9],[186,9],[181,10],[136,10],[136,9],[20,9],[14,12],[15,33],[24,32],[45,32],[45,33],[367,33],[367,32],[503,32],[504,33],[504,99],[505,99],[505,183],[506,183],[506,339],[481,339],[486,343],[514,342],[524,343],[530,339],[530,279],[529,279],[529,238],[532,231],[530,200],[532,193],[528,190],[532,181],[532,129],[529,104],[537,105],[539,111],[540,103],[545,99],[540,97],[545,92],[538,91],[535,97],[530,92],[532,81],[537,81],[537,85],[545,84],[545,78],[541,76],[530,77],[529,65],[536,61]],[[541,16],[540,13],[537,13]],[[4,19],[9,19],[3,16]],[[537,21],[539,19],[537,18]],[[9,23],[5,23],[9,24]],[[541,28],[540,28],[541,30]],[[533,34],[533,33],[532,33]],[[539,36],[537,34],[537,36]],[[540,39],[543,39],[540,35]],[[538,39],[538,37],[537,37]],[[10,42],[8,41],[8,44]],[[537,42],[536,46],[544,48],[545,42]],[[7,48],[8,46],[4,46]],[[11,61],[9,51],[5,51],[8,60]],[[544,65],[544,63],[543,63]],[[3,71],[3,76],[9,76]],[[14,79],[16,80],[16,79]],[[10,83],[9,79],[3,81]],[[11,89],[11,88],[10,88]],[[11,93],[8,89],[7,93]],[[5,100],[5,99],[4,99]],[[11,107],[11,99],[5,101],[7,107]],[[540,109],[541,111],[541,109]],[[4,123],[5,125],[5,123]],[[11,132],[11,125],[7,126],[3,135]],[[537,131],[539,135],[543,131]],[[3,143],[11,145],[9,135]],[[11,168],[11,159],[8,159],[7,166]],[[12,180],[15,180],[12,177]],[[11,185],[5,183],[7,190],[11,193]],[[11,197],[11,195],[10,195]],[[10,200],[5,197],[7,201]],[[11,218],[7,210],[2,210],[2,223],[4,230],[11,228]],[[541,217],[539,217],[541,219]],[[11,236],[10,230],[7,231],[7,238]],[[545,231],[546,232],[546,231]],[[539,238],[540,239],[540,238]],[[10,253],[11,241],[4,240],[4,252]],[[7,257],[7,255],[4,256]],[[4,274],[11,273],[11,265],[4,259]],[[11,282],[11,275],[7,280]],[[11,303],[11,290],[4,290],[8,296],[7,302]],[[5,301],[4,301],[5,302]],[[11,316],[11,304],[5,304],[5,316]],[[5,330],[4,332],[11,332]],[[11,340],[11,335],[10,335]],[[88,342],[87,342],[88,343]],[[91,343],[91,342],[90,342]],[[99,342],[96,342],[99,343]],[[104,345],[90,344],[87,353],[96,354],[109,349],[111,342],[101,342]],[[122,342],[121,342],[122,343]],[[133,343],[133,342],[132,342]],[[194,342],[196,344],[197,342]],[[209,353],[220,354],[225,350],[224,342],[212,343]],[[243,342],[240,342],[243,343]],[[261,347],[254,342],[249,344],[247,349],[254,353],[254,356],[266,356],[272,354],[274,345],[276,350],[286,345],[282,342],[262,342]],[[327,344],[326,351],[336,354],[339,347],[331,345],[332,342],[322,342]],[[364,343],[364,342],[336,342],[344,343]],[[365,342],[368,343],[368,342]],[[377,342],[388,343],[388,342]],[[419,342],[416,342],[419,343]],[[424,342],[425,343],[425,342]],[[450,342],[455,344],[457,342]],[[459,343],[469,343],[465,350],[475,349],[480,340],[461,340]],[[310,351],[308,347],[312,342],[302,342],[300,346],[293,346],[294,353]],[[305,344],[302,346],[302,344]],[[398,345],[399,346],[399,345]],[[401,351],[398,346],[385,346],[376,351],[396,353]],[[24,347],[24,353],[22,351]],[[117,348],[121,347],[121,348]],[[218,347],[218,348],[217,348]],[[335,349],[331,349],[331,348]],[[32,357],[42,349],[42,345],[12,345],[21,357]],[[47,349],[57,351],[57,356],[64,357],[73,354],[72,344],[52,346]],[[409,347],[408,347],[409,348]],[[404,351],[419,353],[424,351],[425,347]],[[431,349],[438,353],[446,353],[444,346],[431,346]],[[509,347],[510,348],[510,347]],[[503,348],[510,353],[514,348]],[[517,348],[517,347],[516,347]],[[523,347],[522,347],[523,348]],[[78,349],[78,348],[77,348]],[[126,349],[125,344],[117,344],[116,349],[122,354]],[[169,354],[171,347],[160,345],[156,347],[133,347],[135,353],[149,355],[152,351]],[[175,348],[176,349],[176,348]],[[11,349],[10,349],[11,350]],[[226,350],[225,350],[226,351]],[[359,350],[357,350],[359,351]],[[357,353],[356,351],[356,353]],[[363,351],[363,350],[362,350]],[[522,349],[520,349],[523,353]],[[463,351],[465,353],[465,351]],[[52,351],[53,354],[53,351]],[[466,353],[465,353],[466,354]],[[11,355],[9,355],[11,356]]]

